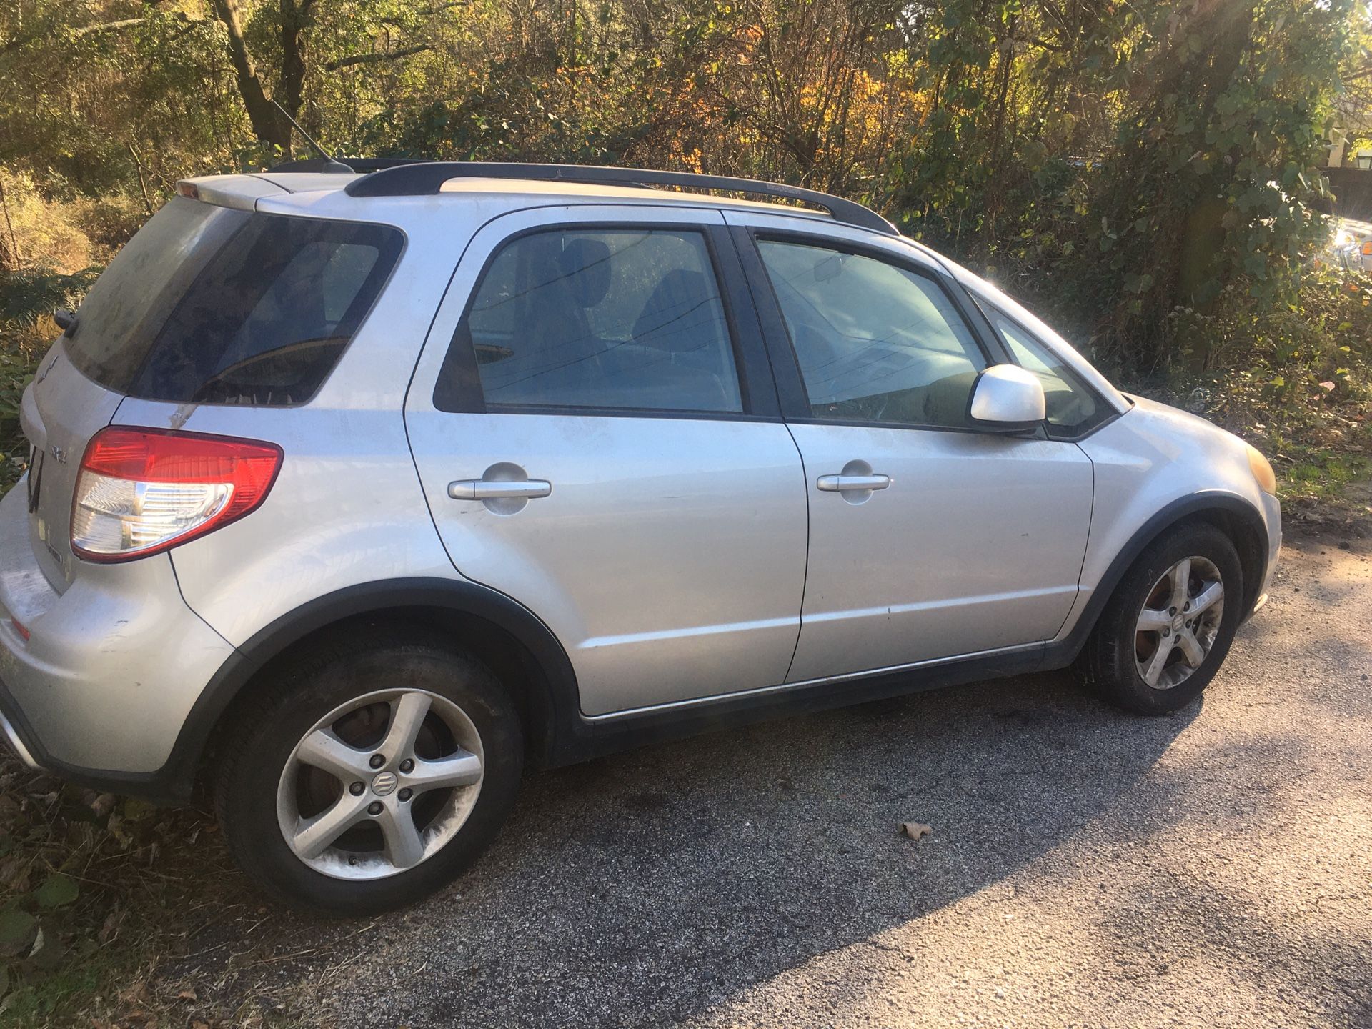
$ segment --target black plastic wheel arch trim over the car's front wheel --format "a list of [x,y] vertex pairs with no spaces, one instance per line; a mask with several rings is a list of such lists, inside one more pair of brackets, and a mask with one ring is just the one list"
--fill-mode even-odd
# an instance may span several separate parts
[[[1104,575],[1100,576],[1100,582],[1096,583],[1096,587],[1092,590],[1091,598],[1077,616],[1077,622],[1072,627],[1072,631],[1062,639],[1048,643],[1044,667],[1065,668],[1077,659],[1077,654],[1081,653],[1081,648],[1087,643],[1087,638],[1091,635],[1091,630],[1096,626],[1096,619],[1100,617],[1100,612],[1110,601],[1110,597],[1114,595],[1120,580],[1124,579],[1125,572],[1128,572],[1129,567],[1139,560],[1139,554],[1142,554],[1150,543],[1152,543],[1169,527],[1187,519],[1205,516],[1207,513],[1224,513],[1233,516],[1239,519],[1240,524],[1249,528],[1254,535],[1254,541],[1258,547],[1258,575],[1255,576],[1255,582],[1243,582],[1243,616],[1247,617],[1253,613],[1253,605],[1257,604],[1258,600],[1258,590],[1262,587],[1262,569],[1266,568],[1269,557],[1266,523],[1257,508],[1232,493],[1192,493],[1172,501],[1165,508],[1161,508],[1152,514],[1152,517],[1144,521],[1132,536],[1129,536],[1129,542],[1121,547],[1120,553],[1114,556],[1114,560],[1106,568]],[[1233,542],[1235,547],[1239,549],[1239,560],[1243,563],[1244,556],[1243,549],[1240,547],[1240,541],[1236,539]],[[1244,563],[1246,575],[1247,571],[1247,563]]]

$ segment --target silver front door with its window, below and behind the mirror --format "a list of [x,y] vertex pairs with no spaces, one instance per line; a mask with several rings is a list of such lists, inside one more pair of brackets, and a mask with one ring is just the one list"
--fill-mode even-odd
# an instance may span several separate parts
[[788,410],[809,498],[788,681],[1052,638],[1077,594],[1091,461],[969,424],[977,373],[1003,351],[914,251],[766,230],[755,246],[804,405]]

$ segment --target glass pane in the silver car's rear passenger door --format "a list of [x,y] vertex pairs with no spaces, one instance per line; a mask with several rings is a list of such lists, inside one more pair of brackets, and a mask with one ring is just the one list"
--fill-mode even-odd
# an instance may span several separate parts
[[[742,412],[709,247],[676,229],[557,229],[491,261],[458,328],[487,407]],[[449,407],[440,387],[440,409]]]

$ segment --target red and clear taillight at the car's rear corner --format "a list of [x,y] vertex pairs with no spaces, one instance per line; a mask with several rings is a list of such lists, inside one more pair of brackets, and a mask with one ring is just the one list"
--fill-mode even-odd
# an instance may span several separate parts
[[203,536],[257,508],[281,449],[229,436],[102,429],[86,447],[71,505],[71,550],[125,561]]

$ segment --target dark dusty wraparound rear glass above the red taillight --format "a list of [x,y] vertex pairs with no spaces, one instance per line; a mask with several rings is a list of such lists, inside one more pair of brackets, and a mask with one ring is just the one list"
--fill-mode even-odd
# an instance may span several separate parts
[[110,262],[66,350],[84,375],[173,403],[305,403],[403,246],[399,229],[178,196]]

